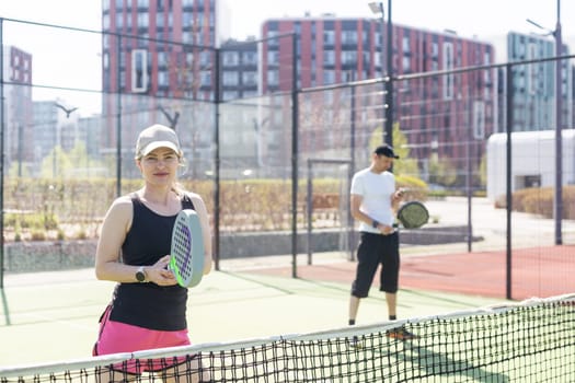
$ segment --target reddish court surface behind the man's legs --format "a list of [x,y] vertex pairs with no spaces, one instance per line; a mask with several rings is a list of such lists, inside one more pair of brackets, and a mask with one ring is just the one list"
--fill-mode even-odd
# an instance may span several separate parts
[[[575,292],[574,245],[515,248],[510,265],[510,297],[505,251],[403,257],[400,288],[514,300]],[[352,283],[355,267],[355,262],[299,265],[297,275],[302,279]],[[278,267],[253,272],[291,277],[291,267]]]

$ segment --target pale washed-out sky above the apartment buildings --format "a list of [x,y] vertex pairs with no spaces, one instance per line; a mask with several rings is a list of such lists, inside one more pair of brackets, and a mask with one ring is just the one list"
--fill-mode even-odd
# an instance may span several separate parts
[[[267,19],[283,16],[299,18],[309,13],[318,18],[324,13],[335,16],[380,18],[371,13],[369,1],[358,0],[226,0],[230,13],[228,25],[231,37],[244,39],[248,36],[258,36],[262,23]],[[561,26],[564,44],[575,51],[575,23],[568,23],[575,16],[575,0],[563,0],[561,3]],[[388,12],[388,0],[383,0]],[[476,38],[480,42],[495,46],[497,62],[505,61],[505,36],[509,31],[518,33],[545,34],[554,31],[557,21],[557,0],[391,0],[392,22],[405,26],[441,32],[456,31],[461,37]],[[101,0],[0,0],[0,16],[26,20],[38,23],[59,24],[85,30],[101,28]],[[387,14],[386,14],[387,18]],[[547,31],[539,30],[527,22],[530,19],[542,25]],[[10,23],[4,23],[4,25]],[[46,59],[57,61],[61,58],[59,68],[46,67],[45,72],[34,69],[35,83],[37,79],[54,76],[55,71],[66,73],[69,85],[82,84],[92,89],[100,88],[100,79],[85,83],[85,76],[68,70],[65,55],[54,55],[59,46],[33,47],[35,43],[30,31],[26,33],[10,33],[4,26],[4,36],[13,38],[10,43],[21,45],[23,49],[31,47],[35,60],[43,55]],[[38,31],[42,33],[42,31]],[[18,38],[16,38],[18,37]],[[32,37],[32,38],[31,38]],[[550,37],[551,38],[551,37]],[[4,37],[4,43],[7,37]],[[101,66],[100,47],[89,44],[66,42],[61,46],[73,44],[76,51],[87,58],[93,58],[87,63],[85,70],[96,70]],[[38,80],[38,83],[42,81]]]

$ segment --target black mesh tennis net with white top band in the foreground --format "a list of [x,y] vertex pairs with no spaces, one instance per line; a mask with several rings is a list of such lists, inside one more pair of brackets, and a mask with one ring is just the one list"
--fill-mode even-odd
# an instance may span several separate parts
[[[390,337],[398,327],[417,337]],[[575,294],[329,332],[0,368],[0,382],[28,381],[574,382]]]

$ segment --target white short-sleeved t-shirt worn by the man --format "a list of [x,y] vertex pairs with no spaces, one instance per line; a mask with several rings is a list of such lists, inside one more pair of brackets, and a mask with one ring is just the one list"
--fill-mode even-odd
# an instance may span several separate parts
[[[395,193],[395,176],[393,173],[373,173],[368,169],[357,172],[352,178],[352,194],[363,197],[359,210],[380,223],[393,224],[391,196]],[[359,231],[379,233],[371,224],[364,221]]]

